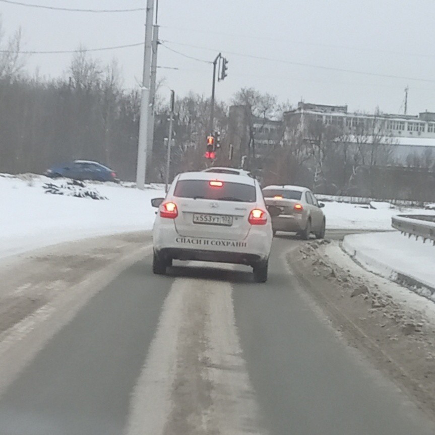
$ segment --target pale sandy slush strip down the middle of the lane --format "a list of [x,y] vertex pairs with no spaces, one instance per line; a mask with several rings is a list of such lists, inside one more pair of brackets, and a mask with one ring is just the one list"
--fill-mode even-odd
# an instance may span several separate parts
[[125,435],[253,433],[259,408],[228,282],[176,278],[133,392]]

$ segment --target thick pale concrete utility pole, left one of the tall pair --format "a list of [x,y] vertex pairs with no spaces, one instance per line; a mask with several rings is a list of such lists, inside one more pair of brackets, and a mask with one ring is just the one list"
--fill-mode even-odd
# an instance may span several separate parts
[[154,0],[147,0],[147,16],[145,21],[144,72],[142,77],[141,116],[139,118],[138,162],[136,167],[136,185],[145,189],[145,171],[147,165],[148,111],[150,109],[150,67],[151,36],[153,26]]

